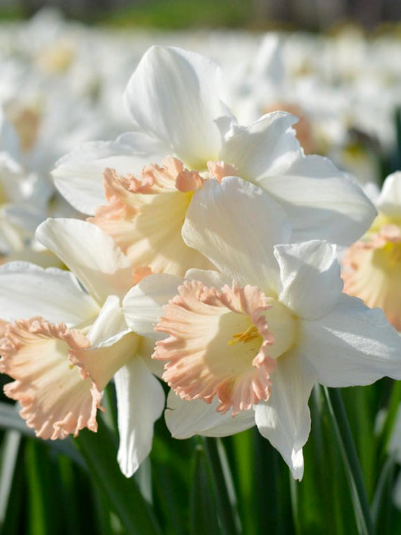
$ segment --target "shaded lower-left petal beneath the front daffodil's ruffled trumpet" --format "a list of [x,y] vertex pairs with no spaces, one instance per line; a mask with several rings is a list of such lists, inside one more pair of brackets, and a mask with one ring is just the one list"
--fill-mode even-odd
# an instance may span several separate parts
[[227,437],[240,433],[255,424],[254,411],[242,410],[235,417],[216,411],[218,401],[206,403],[202,399],[184,401],[170,390],[167,397],[165,419],[174,438],[189,438],[194,435],[205,437]]

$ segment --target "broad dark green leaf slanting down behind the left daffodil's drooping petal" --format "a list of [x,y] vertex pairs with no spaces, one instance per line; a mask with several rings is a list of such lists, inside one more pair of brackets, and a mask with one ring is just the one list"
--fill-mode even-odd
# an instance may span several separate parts
[[115,437],[102,419],[97,433],[84,429],[75,439],[93,480],[108,497],[111,509],[130,535],[161,535],[156,517],[133,478],[125,478],[117,462]]

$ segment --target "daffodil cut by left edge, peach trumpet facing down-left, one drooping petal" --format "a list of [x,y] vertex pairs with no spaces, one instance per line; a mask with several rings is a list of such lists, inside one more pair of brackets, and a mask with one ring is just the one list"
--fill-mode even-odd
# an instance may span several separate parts
[[131,265],[111,237],[86,221],[48,219],[37,239],[72,273],[26,262],[0,267],[0,368],[15,379],[6,395],[21,403],[37,436],[62,439],[97,429],[102,390],[114,377],[118,461],[130,476],[149,455],[165,405],[146,365],[153,343],[147,348],[131,332],[120,307],[132,286]]

